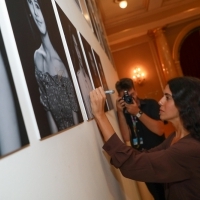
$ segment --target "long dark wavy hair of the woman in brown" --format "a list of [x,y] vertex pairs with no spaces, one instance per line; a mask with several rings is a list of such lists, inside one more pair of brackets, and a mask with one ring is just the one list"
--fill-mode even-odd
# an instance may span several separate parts
[[184,128],[200,141],[200,79],[177,77],[168,85]]

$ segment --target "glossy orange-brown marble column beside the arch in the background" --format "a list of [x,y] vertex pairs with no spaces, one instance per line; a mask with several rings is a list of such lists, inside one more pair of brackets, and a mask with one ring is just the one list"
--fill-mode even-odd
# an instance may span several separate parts
[[165,80],[168,81],[171,78],[179,76],[167,40],[163,33],[163,29],[156,28],[149,33],[151,33],[155,39],[155,45]]

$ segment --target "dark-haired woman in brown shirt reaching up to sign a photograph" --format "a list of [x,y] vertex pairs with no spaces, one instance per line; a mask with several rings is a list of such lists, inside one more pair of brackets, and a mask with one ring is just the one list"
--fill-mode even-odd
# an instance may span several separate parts
[[[95,120],[104,137],[103,149],[111,164],[130,179],[165,184],[167,200],[200,199],[200,79],[177,77],[168,81],[159,101],[160,119],[173,124],[163,143],[146,151],[125,145],[104,113],[105,93],[90,93]],[[126,103],[125,103],[126,104]]]

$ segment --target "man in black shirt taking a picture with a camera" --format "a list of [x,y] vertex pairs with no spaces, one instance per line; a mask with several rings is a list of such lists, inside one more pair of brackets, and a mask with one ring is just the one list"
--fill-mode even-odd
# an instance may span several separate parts
[[[158,102],[138,98],[130,78],[120,79],[115,88],[119,96],[116,108],[124,142],[130,142],[137,150],[149,150],[162,143],[165,139],[164,123],[159,117]],[[146,182],[146,186],[155,200],[165,199],[163,184]]]

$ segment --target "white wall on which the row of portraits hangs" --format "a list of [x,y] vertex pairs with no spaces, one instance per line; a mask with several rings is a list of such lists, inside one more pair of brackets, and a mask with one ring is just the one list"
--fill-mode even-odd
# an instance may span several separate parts
[[[114,89],[117,73],[75,1],[56,2],[100,56],[108,87]],[[94,120],[39,138],[4,0],[0,0],[0,28],[30,142],[0,159],[0,200],[140,200],[135,182],[110,165]],[[115,98],[116,93],[114,105]],[[115,109],[107,116],[120,135]]]

